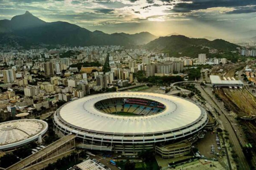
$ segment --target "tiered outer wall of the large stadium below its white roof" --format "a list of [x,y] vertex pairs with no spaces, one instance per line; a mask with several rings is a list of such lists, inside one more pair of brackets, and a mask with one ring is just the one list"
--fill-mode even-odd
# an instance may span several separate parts
[[[94,96],[94,95],[91,95]],[[76,99],[80,100],[80,99]],[[186,100],[186,99],[183,99]],[[73,102],[73,101],[71,101]],[[190,102],[190,101],[189,101]],[[189,143],[184,148],[184,152],[187,148],[189,151],[191,149],[191,144],[197,141],[199,134],[204,129],[205,125],[208,123],[208,115],[205,110],[197,105],[201,110],[201,116],[197,122],[190,124],[186,127],[170,130],[166,132],[158,133],[146,133],[146,134],[114,134],[114,133],[104,133],[95,132],[93,130],[86,130],[78,126],[74,126],[65,120],[63,120],[59,112],[63,106],[69,104],[70,102],[62,105],[54,114],[54,131],[55,133],[62,137],[67,134],[76,134],[76,139],[80,141],[77,147],[90,149],[90,150],[101,150],[101,151],[111,151],[115,153],[133,153],[150,149],[156,149],[156,146],[165,145],[175,145],[177,143],[186,142]],[[157,150],[156,150],[157,152]],[[181,150],[172,151],[173,153],[168,153],[163,157],[174,157],[170,155],[175,155],[175,152],[179,152],[182,155]],[[160,154],[160,151],[158,151]]]

